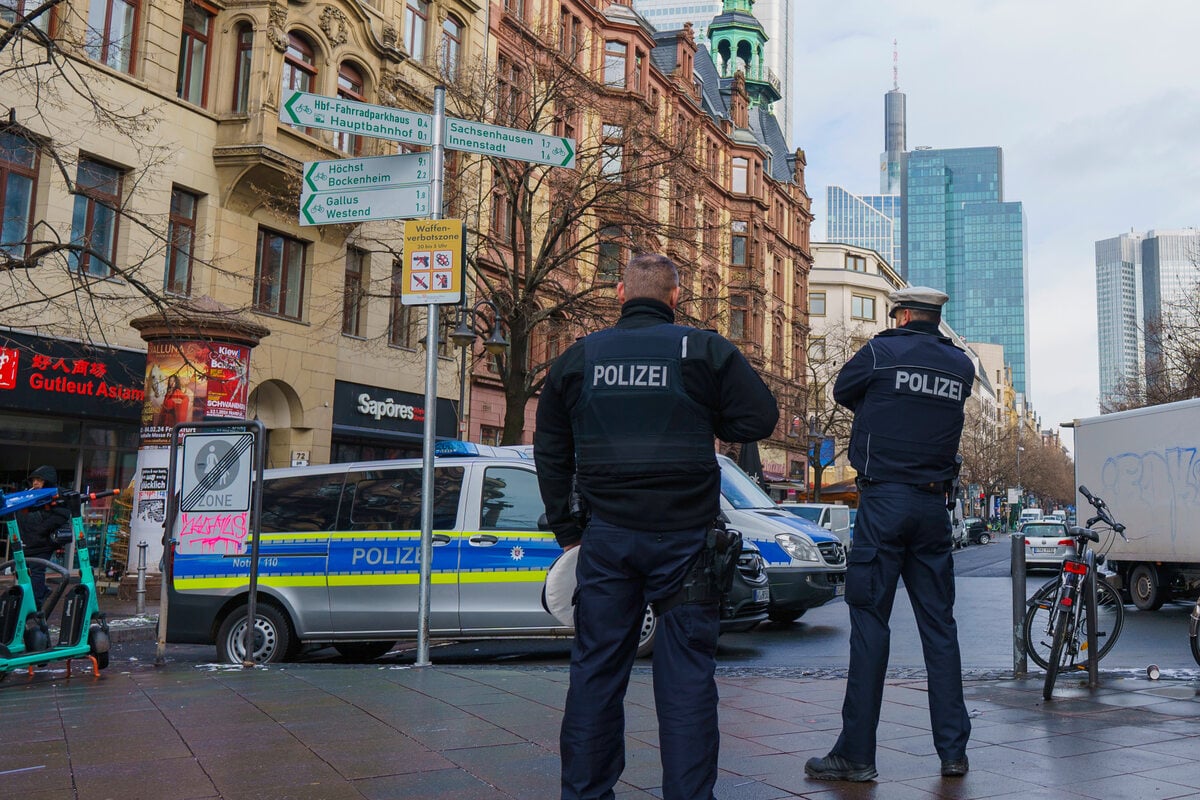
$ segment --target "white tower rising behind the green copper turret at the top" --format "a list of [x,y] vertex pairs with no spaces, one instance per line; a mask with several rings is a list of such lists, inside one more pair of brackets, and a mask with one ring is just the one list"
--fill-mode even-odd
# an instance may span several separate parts
[[797,58],[792,37],[788,35],[792,19],[797,11],[794,2],[787,0],[692,0],[680,2],[679,0],[632,0],[634,10],[637,11],[646,22],[655,29],[677,30],[684,23],[691,23],[696,34],[696,41],[709,44],[709,50],[716,53],[716,47],[709,40],[709,26],[716,17],[743,12],[752,14],[762,25],[769,46],[766,48],[764,61],[768,80],[779,91],[780,102],[775,103],[773,110],[779,126],[784,131],[784,138],[792,142],[792,122],[790,119],[791,104],[788,102],[788,88],[796,85]]

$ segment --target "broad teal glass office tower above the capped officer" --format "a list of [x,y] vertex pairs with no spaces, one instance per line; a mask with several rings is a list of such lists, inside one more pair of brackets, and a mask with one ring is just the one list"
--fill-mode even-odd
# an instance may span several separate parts
[[1001,149],[918,148],[901,163],[901,273],[950,295],[946,321],[967,341],[1003,344],[1027,396],[1025,211],[1004,201]]

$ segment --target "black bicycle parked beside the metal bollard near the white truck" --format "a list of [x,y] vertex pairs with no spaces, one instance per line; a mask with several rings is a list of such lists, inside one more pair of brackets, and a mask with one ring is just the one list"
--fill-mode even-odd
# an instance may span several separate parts
[[[1108,655],[1116,644],[1117,637],[1121,636],[1121,626],[1124,624],[1121,593],[1112,588],[1104,576],[1090,569],[1087,563],[1088,542],[1100,541],[1099,534],[1092,530],[1092,527],[1103,522],[1121,539],[1126,539],[1124,525],[1112,518],[1104,500],[1094,497],[1086,486],[1080,486],[1079,493],[1096,509],[1096,516],[1087,521],[1085,528],[1070,529],[1070,543],[1075,552],[1063,559],[1057,578],[1051,578],[1033,593],[1022,630],[1025,651],[1034,663],[1046,670],[1042,696],[1048,700],[1054,693],[1054,685],[1060,674],[1087,669],[1086,591],[1090,582],[1096,582],[1097,661]],[[1103,560],[1103,555],[1097,555],[1096,566]],[[1193,646],[1196,646],[1195,639]]]

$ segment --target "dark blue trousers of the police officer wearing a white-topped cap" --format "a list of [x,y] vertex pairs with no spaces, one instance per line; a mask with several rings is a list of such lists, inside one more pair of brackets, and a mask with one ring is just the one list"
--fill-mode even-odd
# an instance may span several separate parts
[[943,494],[905,483],[859,489],[854,541],[846,567],[850,673],[842,729],[830,752],[875,764],[875,736],[890,649],[892,604],[902,577],[929,685],[934,746],[942,760],[966,754],[971,722],[962,700],[962,658],[954,621],[954,560]]

